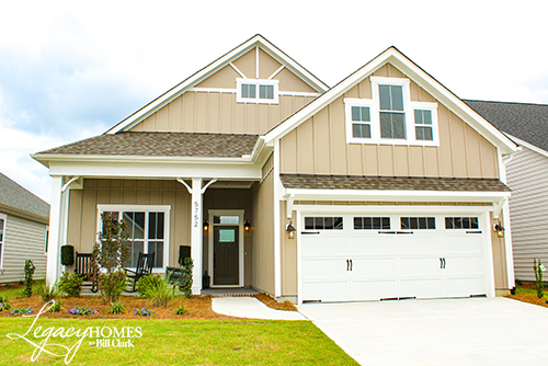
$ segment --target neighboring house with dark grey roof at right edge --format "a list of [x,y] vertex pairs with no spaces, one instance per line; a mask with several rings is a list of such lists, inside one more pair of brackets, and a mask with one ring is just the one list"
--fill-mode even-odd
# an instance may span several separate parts
[[522,150],[506,163],[515,276],[535,281],[533,259],[548,264],[548,105],[465,101]]

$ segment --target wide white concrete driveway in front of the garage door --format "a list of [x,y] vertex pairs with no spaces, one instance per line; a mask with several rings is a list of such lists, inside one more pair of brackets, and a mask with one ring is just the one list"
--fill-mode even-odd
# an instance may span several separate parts
[[546,365],[548,308],[506,298],[305,304],[362,365]]

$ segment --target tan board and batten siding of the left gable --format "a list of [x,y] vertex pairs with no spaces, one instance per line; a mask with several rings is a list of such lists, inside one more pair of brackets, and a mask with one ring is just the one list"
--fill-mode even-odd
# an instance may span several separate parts
[[[253,80],[267,79],[282,66],[262,49],[259,62],[252,49],[232,64]],[[316,96],[284,95],[284,93],[317,93],[310,85],[284,68],[272,80],[279,82],[279,103],[237,103],[236,79],[242,78],[231,66],[226,66],[195,88],[186,91],[158,112],[132,128],[132,131],[265,134],[286,117],[310,103]]]

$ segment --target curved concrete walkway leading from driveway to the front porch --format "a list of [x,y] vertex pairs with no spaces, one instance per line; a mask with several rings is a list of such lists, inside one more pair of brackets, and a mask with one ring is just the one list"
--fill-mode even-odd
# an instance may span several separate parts
[[214,297],[212,309],[225,316],[272,320],[307,320],[297,311],[269,308],[254,297]]

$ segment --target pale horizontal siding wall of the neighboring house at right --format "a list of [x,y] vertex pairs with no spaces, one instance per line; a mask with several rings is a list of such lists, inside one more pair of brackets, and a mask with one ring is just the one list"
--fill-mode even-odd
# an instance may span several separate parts
[[[548,265],[548,157],[526,147],[506,165],[515,276],[535,281],[533,259]],[[546,276],[546,275],[545,275]]]

